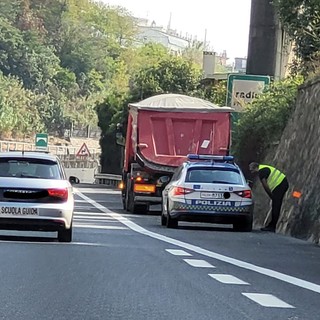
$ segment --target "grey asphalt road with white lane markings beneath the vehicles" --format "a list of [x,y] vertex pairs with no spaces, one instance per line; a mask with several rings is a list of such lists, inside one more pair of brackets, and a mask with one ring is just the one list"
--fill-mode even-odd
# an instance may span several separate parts
[[0,319],[320,319],[320,247],[230,226],[160,226],[77,188],[74,239],[2,231]]

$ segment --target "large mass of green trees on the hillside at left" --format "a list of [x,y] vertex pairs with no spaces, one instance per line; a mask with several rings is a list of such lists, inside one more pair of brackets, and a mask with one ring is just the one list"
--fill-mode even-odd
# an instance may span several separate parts
[[[90,0],[2,0],[1,79],[15,83],[22,92],[17,96],[26,93],[27,99],[2,101],[2,133],[24,135],[40,126],[62,135],[71,123],[97,125],[97,104],[128,90],[128,77],[119,79],[127,72],[123,57],[135,32],[133,18],[120,7]],[[5,91],[0,95],[5,99]],[[30,101],[33,126],[28,116],[17,126]],[[112,108],[110,121],[121,113]]]

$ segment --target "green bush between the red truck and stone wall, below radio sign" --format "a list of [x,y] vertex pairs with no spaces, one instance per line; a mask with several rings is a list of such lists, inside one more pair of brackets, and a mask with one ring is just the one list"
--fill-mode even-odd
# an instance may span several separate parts
[[302,77],[274,82],[246,106],[235,128],[233,152],[240,164],[261,161],[277,143],[292,114]]

